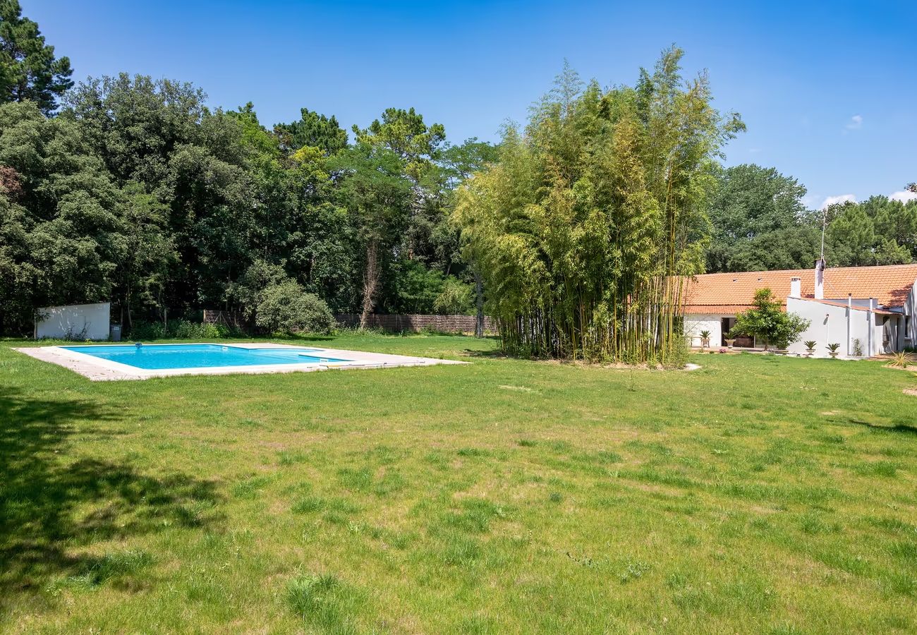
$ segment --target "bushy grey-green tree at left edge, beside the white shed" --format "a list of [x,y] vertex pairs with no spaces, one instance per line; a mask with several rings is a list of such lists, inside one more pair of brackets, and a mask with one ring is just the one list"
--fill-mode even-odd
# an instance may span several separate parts
[[39,306],[98,302],[127,255],[125,197],[72,122],[34,102],[0,106],[0,329]]

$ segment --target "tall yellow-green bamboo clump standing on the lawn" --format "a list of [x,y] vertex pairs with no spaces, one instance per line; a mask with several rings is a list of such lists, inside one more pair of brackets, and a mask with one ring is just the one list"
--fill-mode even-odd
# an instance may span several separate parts
[[704,213],[741,119],[711,105],[663,53],[635,86],[582,84],[565,67],[500,162],[459,190],[453,220],[484,280],[504,351],[668,364],[683,281],[702,272]]

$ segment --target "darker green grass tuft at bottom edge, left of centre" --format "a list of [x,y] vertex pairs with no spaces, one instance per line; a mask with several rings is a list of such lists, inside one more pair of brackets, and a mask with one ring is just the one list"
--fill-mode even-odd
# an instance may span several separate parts
[[305,623],[330,633],[357,633],[365,594],[335,575],[305,575],[287,585],[286,601]]

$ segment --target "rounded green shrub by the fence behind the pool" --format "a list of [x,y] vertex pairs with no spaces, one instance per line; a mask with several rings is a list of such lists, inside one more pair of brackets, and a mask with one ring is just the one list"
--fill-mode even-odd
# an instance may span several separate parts
[[255,324],[271,333],[329,333],[335,318],[324,300],[287,280],[263,291]]

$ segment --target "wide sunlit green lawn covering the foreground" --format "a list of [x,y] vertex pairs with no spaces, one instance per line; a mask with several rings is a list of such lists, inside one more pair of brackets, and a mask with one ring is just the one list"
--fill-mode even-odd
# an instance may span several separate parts
[[0,630],[917,629],[917,384],[880,362],[90,383],[0,344]]

